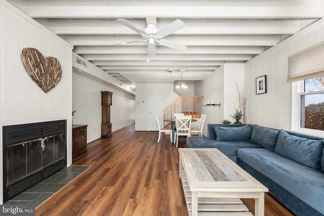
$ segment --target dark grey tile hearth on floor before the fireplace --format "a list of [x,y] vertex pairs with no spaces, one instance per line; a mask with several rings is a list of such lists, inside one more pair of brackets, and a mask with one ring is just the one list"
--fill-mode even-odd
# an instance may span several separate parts
[[5,204],[28,204],[37,206],[71,182],[75,177],[82,174],[89,167],[90,166],[65,167],[43,182],[38,183],[34,187],[12,198]]

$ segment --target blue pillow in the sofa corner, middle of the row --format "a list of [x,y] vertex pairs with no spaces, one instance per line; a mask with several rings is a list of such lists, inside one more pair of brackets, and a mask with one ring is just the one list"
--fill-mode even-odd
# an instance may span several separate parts
[[278,134],[279,131],[276,129],[271,129],[256,124],[253,127],[250,141],[262,146],[265,149],[273,151],[275,144],[277,143]]

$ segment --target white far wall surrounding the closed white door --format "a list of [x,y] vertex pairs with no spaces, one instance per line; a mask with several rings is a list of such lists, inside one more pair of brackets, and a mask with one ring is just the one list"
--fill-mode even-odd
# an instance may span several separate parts
[[180,98],[179,95],[173,92],[173,83],[136,84],[135,131],[148,131],[149,129],[150,95],[162,95],[163,110]]

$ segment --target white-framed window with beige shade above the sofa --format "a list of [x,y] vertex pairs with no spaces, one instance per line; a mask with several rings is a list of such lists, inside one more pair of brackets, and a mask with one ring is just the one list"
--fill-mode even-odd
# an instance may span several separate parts
[[292,131],[324,137],[324,42],[290,56]]

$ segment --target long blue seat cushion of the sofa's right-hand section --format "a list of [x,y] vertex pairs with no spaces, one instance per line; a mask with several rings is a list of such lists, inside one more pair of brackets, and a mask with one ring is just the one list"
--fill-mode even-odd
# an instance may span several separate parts
[[237,157],[324,213],[324,172],[264,148],[237,149]]

